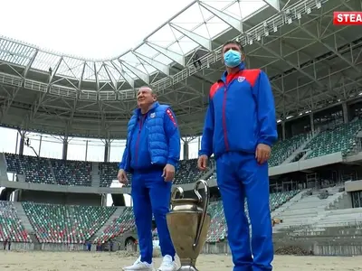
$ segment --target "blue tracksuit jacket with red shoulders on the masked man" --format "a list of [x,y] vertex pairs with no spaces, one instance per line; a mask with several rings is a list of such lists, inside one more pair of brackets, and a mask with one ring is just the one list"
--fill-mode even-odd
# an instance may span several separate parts
[[210,89],[200,155],[215,158],[225,152],[254,153],[256,145],[278,139],[271,84],[262,70],[240,70]]

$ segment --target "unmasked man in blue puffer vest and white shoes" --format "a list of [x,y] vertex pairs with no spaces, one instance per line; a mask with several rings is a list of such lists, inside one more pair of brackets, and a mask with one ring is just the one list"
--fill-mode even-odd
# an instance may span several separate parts
[[118,179],[127,183],[132,173],[131,196],[138,231],[140,257],[123,270],[154,270],[152,265],[152,213],[155,216],[163,256],[159,271],[176,270],[166,215],[172,181],[180,158],[180,133],[175,114],[157,102],[148,87],[138,90],[138,108],[129,120],[126,148],[119,164]]

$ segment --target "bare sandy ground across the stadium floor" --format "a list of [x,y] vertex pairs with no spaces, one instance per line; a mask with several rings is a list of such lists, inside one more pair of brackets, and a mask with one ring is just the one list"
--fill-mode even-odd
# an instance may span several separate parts
[[[134,257],[110,252],[4,252],[0,251],[1,271],[120,271],[121,266],[133,263]],[[159,265],[160,258],[155,260]],[[276,256],[276,271],[327,271],[362,270],[362,257],[292,257]],[[231,271],[230,256],[201,255],[197,267],[200,271]]]

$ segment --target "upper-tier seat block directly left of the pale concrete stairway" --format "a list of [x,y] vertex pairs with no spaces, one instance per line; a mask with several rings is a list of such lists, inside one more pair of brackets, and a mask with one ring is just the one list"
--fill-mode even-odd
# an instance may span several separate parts
[[61,185],[91,185],[91,163],[50,159],[55,180]]

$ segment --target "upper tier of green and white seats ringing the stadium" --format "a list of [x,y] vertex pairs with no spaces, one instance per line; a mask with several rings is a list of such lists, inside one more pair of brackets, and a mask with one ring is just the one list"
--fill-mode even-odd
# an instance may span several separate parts
[[[348,124],[325,130],[318,135],[311,133],[295,135],[278,141],[272,148],[270,166],[277,166],[287,160],[298,148],[304,146],[308,158],[342,152],[346,155],[357,145],[357,133],[362,129],[362,120],[357,119]],[[92,180],[92,163],[80,161],[63,161],[34,156],[5,154],[7,171],[25,175],[26,182],[53,183],[59,185],[90,186]],[[211,158],[210,168],[214,167]],[[118,163],[100,164],[100,187],[109,187],[116,179]],[[196,159],[182,160],[176,173],[176,184],[195,182],[203,173],[196,167]],[[214,173],[209,178],[214,178]],[[129,175],[129,180],[131,176]],[[128,184],[129,185],[129,184]]]

